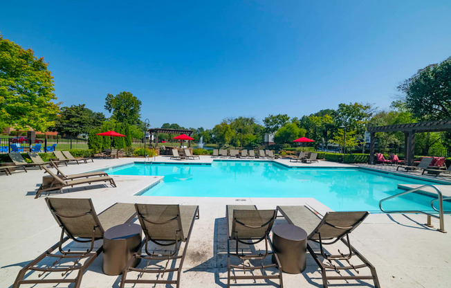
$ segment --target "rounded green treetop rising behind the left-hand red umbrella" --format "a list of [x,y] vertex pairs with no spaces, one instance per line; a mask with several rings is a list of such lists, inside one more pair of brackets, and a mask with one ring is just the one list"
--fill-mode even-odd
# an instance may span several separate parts
[[120,92],[105,98],[105,109],[113,114],[113,118],[120,123],[138,124],[141,111],[141,101],[130,92]]

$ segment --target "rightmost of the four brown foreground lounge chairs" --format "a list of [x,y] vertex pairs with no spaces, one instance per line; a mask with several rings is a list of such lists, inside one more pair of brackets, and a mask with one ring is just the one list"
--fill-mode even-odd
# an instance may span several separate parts
[[[369,215],[368,212],[328,212],[321,219],[306,206],[277,206],[277,210],[282,213],[288,223],[303,228],[308,235],[308,240],[320,245],[320,253],[313,251],[310,243],[307,244],[307,249],[321,269],[323,287],[328,287],[328,280],[373,280],[374,286],[380,287],[374,266],[349,242],[349,233],[363,222]],[[331,255],[324,251],[324,245],[335,244],[340,240],[347,246],[349,253],[342,253],[339,250],[338,255]],[[362,263],[351,264],[350,260],[353,255],[356,255]],[[324,263],[320,257],[327,262]],[[361,268],[368,268],[371,276],[361,275],[358,271]],[[352,271],[353,276],[342,276],[340,273],[340,276],[328,277],[326,275],[326,272],[342,270]]]

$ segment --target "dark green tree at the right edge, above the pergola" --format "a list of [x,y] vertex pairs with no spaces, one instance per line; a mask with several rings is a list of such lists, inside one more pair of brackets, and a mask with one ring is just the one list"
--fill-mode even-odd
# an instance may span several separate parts
[[405,103],[419,120],[451,119],[451,57],[426,66],[398,86]]

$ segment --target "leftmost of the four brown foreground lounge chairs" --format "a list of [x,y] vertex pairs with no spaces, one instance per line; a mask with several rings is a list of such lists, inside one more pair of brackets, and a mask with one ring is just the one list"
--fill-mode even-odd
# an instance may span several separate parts
[[[97,214],[91,199],[46,198],[46,202],[57,224],[62,228],[61,238],[57,244],[19,271],[12,288],[18,288],[20,285],[50,283],[54,285],[74,283],[74,288],[80,287],[84,271],[103,250],[103,246],[94,249],[95,240],[102,239],[104,231],[113,226],[130,223],[136,215],[133,204],[116,203]],[[75,242],[89,242],[91,247],[84,248],[82,251],[74,251],[73,249],[76,248],[72,247],[64,250],[66,247],[63,247],[63,244],[69,239]],[[30,279],[33,271],[41,273],[40,276],[44,273],[47,275]],[[50,278],[47,277],[48,274],[55,276],[59,274],[61,277]],[[68,277],[71,275],[75,275],[75,278]]]

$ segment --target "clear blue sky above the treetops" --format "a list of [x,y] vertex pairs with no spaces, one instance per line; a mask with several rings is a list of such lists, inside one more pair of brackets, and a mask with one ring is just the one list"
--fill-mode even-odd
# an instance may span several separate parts
[[0,33],[44,57],[64,106],[130,91],[152,127],[380,109],[451,56],[451,1],[3,1]]

